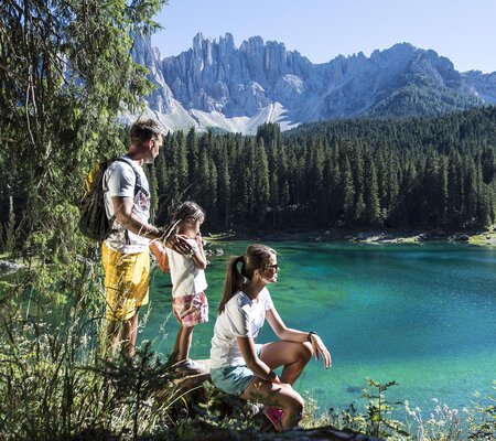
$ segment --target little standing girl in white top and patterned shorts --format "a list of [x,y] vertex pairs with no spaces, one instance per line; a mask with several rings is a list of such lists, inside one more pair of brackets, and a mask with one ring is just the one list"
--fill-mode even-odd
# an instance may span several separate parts
[[190,255],[165,248],[168,262],[161,262],[162,269],[168,266],[172,279],[172,310],[181,327],[175,337],[174,353],[177,355],[177,372],[198,374],[200,367],[190,358],[193,327],[208,321],[208,302],[205,295],[207,282],[204,269],[207,265],[203,250],[200,226],[205,213],[194,202],[184,202],[173,215],[177,222],[176,234],[183,236],[191,245]]

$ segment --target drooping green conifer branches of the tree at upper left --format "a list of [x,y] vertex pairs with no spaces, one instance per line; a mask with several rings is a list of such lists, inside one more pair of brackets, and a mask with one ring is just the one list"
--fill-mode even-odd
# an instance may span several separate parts
[[80,245],[54,207],[71,211],[87,171],[122,150],[118,112],[150,90],[133,40],[157,28],[163,2],[1,2],[0,207],[13,198],[18,249],[36,232],[58,250]]

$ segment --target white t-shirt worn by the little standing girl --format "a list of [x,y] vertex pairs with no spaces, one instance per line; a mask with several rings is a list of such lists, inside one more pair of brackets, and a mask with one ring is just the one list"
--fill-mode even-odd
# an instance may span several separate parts
[[[195,239],[187,239],[193,251],[198,250]],[[172,297],[197,294],[205,291],[207,282],[205,271],[196,267],[190,256],[182,256],[170,248],[165,248],[171,268]]]

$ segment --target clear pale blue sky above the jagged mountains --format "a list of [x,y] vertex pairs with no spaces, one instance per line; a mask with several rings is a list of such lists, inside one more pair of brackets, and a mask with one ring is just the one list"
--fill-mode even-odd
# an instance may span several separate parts
[[237,46],[260,35],[313,63],[408,42],[461,72],[496,71],[496,0],[169,0],[155,20],[162,56],[187,51],[197,32],[230,32]]

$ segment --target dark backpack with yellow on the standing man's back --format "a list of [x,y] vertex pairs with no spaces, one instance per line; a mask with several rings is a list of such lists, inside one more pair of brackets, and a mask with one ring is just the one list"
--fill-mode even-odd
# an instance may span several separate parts
[[147,191],[141,185],[141,178],[132,165],[131,160],[127,158],[112,158],[100,162],[86,176],[85,194],[79,204],[79,230],[88,238],[97,241],[105,240],[115,232],[112,228],[116,215],[110,219],[105,211],[104,175],[106,170],[115,161],[121,161],[129,164],[136,175],[134,195],[141,190]]

